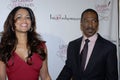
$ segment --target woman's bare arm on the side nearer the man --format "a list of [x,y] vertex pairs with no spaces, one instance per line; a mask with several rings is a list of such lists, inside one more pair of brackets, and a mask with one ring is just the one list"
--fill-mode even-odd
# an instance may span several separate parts
[[[47,56],[47,48],[45,48],[45,53]],[[42,68],[40,70],[40,77],[41,77],[41,80],[51,80],[51,77],[50,77],[49,71],[48,71],[47,57],[43,61]]]

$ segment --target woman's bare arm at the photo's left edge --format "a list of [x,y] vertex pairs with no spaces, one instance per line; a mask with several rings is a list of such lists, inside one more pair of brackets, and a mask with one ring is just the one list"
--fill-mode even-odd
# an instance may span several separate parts
[[6,80],[6,66],[2,61],[0,61],[0,80]]

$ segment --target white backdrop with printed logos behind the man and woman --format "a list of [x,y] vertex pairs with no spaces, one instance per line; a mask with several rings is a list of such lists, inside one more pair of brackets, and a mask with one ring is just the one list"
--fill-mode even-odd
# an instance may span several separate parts
[[0,31],[15,6],[30,7],[36,16],[37,32],[46,41],[48,68],[55,80],[64,66],[68,42],[80,37],[80,16],[86,8],[99,14],[99,33],[118,42],[117,0],[0,0]]

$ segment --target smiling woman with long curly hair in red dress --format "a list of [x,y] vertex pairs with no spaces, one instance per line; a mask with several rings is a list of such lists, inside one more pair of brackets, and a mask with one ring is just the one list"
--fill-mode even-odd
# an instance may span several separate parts
[[8,15],[0,44],[0,80],[50,80],[45,41],[36,33],[33,11],[15,7]]

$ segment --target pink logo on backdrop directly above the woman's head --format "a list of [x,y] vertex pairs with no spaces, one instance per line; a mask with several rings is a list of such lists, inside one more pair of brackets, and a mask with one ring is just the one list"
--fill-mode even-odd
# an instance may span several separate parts
[[24,7],[34,7],[34,0],[10,0],[10,3],[8,4],[9,9],[13,9],[16,6],[24,6]]

